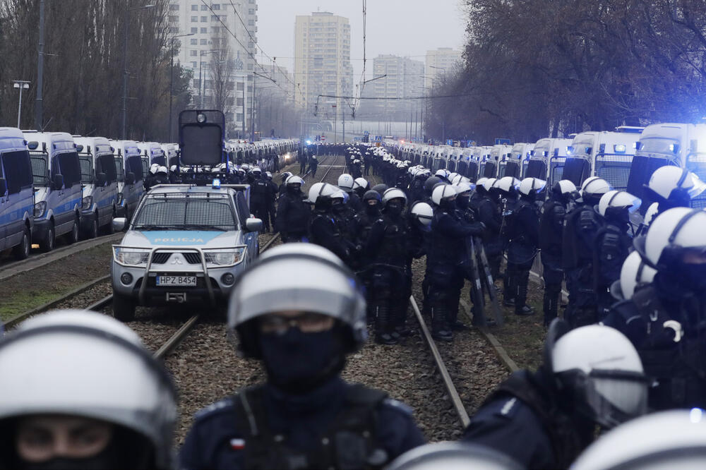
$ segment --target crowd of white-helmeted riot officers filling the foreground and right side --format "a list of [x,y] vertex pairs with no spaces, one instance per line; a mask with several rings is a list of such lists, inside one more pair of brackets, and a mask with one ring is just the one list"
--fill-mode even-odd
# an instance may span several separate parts
[[[344,150],[347,164],[368,151]],[[655,171],[633,239],[640,201],[601,179],[581,191],[532,178],[474,188],[376,160],[384,186],[346,173],[305,197],[291,174],[277,188],[275,230],[288,243],[237,279],[227,313],[239,354],[261,361],[267,379],[199,411],[178,459],[177,393],[163,366],[126,325],[59,311],[0,339],[0,468],[702,468],[706,212],[685,207],[703,190],[695,175]],[[424,445],[405,404],[340,378],[366,323],[379,343],[409,335],[414,258],[427,258],[434,335],[450,340],[465,328],[455,311],[474,254],[496,277],[507,256],[503,301],[531,315],[527,276],[540,250],[542,365],[486,397],[460,442]],[[569,299],[556,318],[562,282]],[[473,318],[489,323],[478,309]]]

